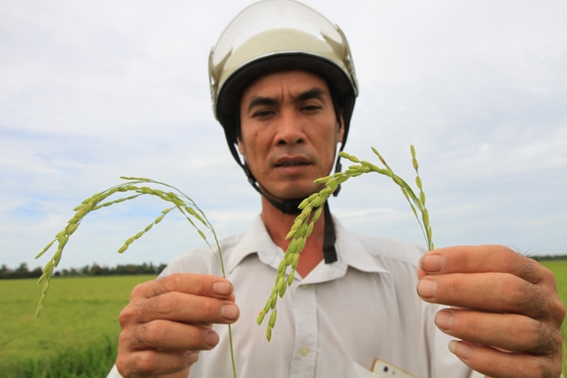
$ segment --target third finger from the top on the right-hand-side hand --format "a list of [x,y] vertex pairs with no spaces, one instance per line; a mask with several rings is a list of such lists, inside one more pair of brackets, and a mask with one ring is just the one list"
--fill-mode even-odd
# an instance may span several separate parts
[[553,355],[561,352],[562,336],[539,320],[511,314],[444,309],[435,324],[447,335],[507,351]]

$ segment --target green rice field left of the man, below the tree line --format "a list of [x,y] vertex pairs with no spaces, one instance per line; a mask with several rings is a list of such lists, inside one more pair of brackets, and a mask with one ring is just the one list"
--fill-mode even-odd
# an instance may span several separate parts
[[[3,376],[104,376],[116,355],[120,333],[118,314],[128,304],[134,286],[153,278],[54,278],[38,319],[35,319],[35,308],[41,287],[36,280],[0,280],[0,371]],[[85,365],[98,366],[100,360],[105,362],[96,368],[105,374],[81,373]],[[50,366],[57,366],[61,374],[54,373]],[[67,373],[63,374],[63,370]]]

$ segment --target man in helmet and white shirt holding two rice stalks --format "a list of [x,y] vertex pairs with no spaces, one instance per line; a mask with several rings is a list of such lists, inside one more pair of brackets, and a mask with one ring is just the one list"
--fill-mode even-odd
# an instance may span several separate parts
[[548,270],[502,246],[422,257],[410,243],[349,233],[328,207],[278,302],[268,343],[256,316],[299,201],[321,189],[313,181],[330,173],[346,142],[353,63],[337,27],[276,0],[232,21],[210,69],[215,115],[262,211],[248,232],[221,241],[227,280],[214,256],[198,250],[134,289],[109,376],[231,376],[224,324],[234,324],[237,371],[246,378],[373,377],[375,360],[420,378],[478,376],[471,369],[561,374],[564,309]]

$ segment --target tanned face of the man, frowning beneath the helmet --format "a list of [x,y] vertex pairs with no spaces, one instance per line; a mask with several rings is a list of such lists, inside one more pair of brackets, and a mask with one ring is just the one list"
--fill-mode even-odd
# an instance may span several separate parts
[[274,199],[307,197],[330,173],[343,140],[327,83],[314,73],[284,71],[253,81],[240,102],[238,150]]

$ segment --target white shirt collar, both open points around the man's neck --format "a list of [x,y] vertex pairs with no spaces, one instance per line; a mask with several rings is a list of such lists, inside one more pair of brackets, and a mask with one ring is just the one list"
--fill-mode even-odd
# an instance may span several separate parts
[[[322,260],[301,283],[326,282],[340,278],[346,274],[346,268],[352,266],[362,272],[389,273],[381,258],[372,256],[358,238],[343,228],[337,218],[333,217],[337,241],[338,261],[325,264]],[[277,270],[283,258],[282,249],[270,238],[260,215],[252,222],[252,227],[245,233],[234,250],[230,253],[228,271],[231,273],[248,255],[257,253],[260,261]]]

